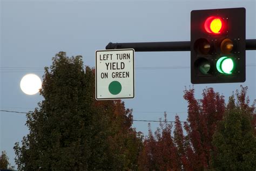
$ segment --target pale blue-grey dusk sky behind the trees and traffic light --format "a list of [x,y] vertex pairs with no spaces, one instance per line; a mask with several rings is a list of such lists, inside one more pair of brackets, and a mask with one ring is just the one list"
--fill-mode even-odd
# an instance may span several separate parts
[[[256,1],[23,1],[0,0],[0,110],[33,111],[43,97],[26,95],[19,87],[28,73],[41,79],[44,67],[59,51],[82,55],[84,65],[95,66],[95,52],[109,43],[190,41],[190,12],[200,9],[246,9],[246,39],[256,39]],[[238,28],[239,29],[239,28]],[[245,83],[197,84],[190,81],[190,52],[135,52],[135,97],[125,99],[134,120],[159,120],[167,112],[173,121],[187,118],[185,87],[194,86],[196,98],[213,87],[227,101],[240,85],[256,99],[256,51],[246,51]],[[0,151],[15,165],[14,144],[28,134],[23,113],[0,112]],[[149,122],[133,122],[147,135]],[[152,130],[158,122],[151,122]]]

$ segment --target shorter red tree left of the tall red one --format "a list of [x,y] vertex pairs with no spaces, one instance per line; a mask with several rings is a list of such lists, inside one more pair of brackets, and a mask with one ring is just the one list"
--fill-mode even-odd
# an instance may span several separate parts
[[172,124],[166,119],[160,120],[160,128],[152,133],[149,125],[149,135],[144,140],[143,151],[139,156],[141,170],[180,170],[179,155],[172,136]]

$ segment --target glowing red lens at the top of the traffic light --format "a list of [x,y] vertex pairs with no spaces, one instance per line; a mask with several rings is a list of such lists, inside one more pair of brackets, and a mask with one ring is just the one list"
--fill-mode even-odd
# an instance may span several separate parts
[[223,21],[219,17],[211,16],[205,20],[204,27],[208,33],[219,34],[220,30],[223,28]]

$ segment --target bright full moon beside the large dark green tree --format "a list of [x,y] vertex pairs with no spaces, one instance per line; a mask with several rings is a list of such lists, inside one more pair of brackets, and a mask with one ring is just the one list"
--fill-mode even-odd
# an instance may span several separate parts
[[36,74],[26,74],[21,80],[21,90],[28,95],[39,92],[42,87],[42,81]]

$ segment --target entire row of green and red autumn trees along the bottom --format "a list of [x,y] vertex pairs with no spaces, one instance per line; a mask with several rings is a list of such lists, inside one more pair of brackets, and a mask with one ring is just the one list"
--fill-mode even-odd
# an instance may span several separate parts
[[[194,88],[185,90],[187,121],[176,115],[169,122],[164,113],[144,138],[122,100],[95,100],[95,70],[84,67],[82,56],[59,52],[52,60],[43,76],[44,100],[26,115],[29,134],[15,143],[19,170],[256,169],[256,115],[247,87],[227,105],[213,88],[201,99]],[[4,158],[0,167],[6,168]]]

